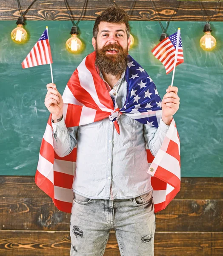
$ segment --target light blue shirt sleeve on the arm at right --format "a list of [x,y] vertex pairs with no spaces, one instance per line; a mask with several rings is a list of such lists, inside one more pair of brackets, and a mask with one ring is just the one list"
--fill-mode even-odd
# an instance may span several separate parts
[[169,125],[166,125],[162,118],[160,119],[158,128],[143,124],[143,134],[146,140],[146,144],[154,157],[163,144],[163,140],[168,129]]

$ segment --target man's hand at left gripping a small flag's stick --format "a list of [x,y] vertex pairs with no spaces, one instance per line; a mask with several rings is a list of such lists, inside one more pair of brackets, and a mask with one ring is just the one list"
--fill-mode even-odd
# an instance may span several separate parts
[[47,84],[46,88],[45,106],[52,114],[54,122],[57,122],[57,119],[60,119],[63,115],[63,99],[57,90],[56,84]]

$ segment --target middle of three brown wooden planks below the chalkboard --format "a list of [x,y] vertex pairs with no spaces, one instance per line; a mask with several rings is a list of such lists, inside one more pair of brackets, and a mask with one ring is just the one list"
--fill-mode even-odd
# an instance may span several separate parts
[[[156,213],[156,231],[223,230],[223,200],[174,199]],[[0,198],[1,230],[69,230],[70,214],[51,198]]]

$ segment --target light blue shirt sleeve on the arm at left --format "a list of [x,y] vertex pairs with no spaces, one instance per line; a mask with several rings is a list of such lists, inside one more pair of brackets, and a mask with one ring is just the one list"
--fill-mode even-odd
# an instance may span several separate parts
[[78,126],[66,128],[64,118],[57,123],[51,121],[51,124],[53,128],[54,151],[59,157],[65,157],[71,153],[77,144],[76,134]]

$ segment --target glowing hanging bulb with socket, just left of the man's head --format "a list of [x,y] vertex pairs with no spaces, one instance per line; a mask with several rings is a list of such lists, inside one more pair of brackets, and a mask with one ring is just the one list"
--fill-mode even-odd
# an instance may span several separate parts
[[77,30],[77,26],[72,26],[71,28],[71,38],[69,38],[66,41],[66,49],[71,52],[71,53],[79,53],[82,50],[82,42],[80,41],[80,39],[77,37],[78,30]]

